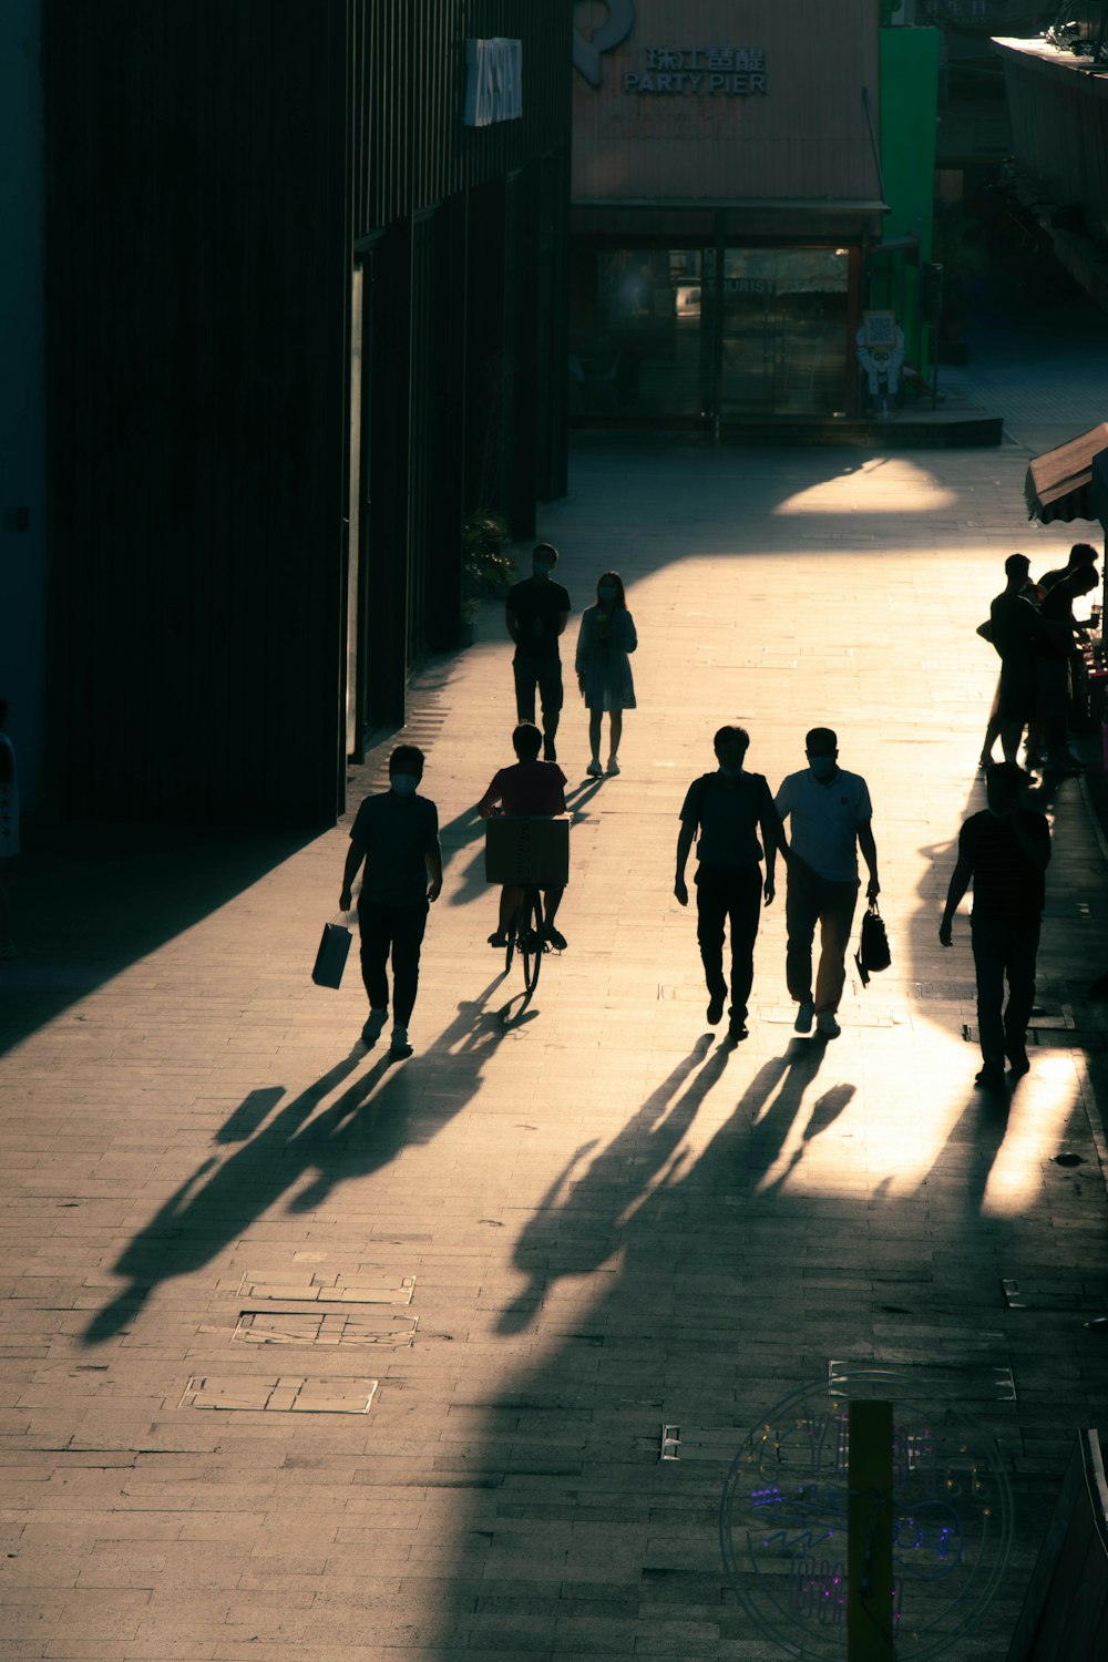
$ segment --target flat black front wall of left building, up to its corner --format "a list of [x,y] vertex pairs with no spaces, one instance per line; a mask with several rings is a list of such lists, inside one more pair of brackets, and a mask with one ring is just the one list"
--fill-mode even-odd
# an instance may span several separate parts
[[58,806],[336,801],[344,18],[43,13]]

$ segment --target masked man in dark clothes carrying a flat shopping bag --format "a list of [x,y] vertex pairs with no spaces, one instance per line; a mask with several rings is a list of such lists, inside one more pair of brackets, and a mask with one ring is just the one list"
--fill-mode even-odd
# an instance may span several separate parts
[[412,1054],[409,1022],[419,989],[419,954],[427,929],[429,901],[442,891],[439,809],[419,796],[424,753],[397,745],[389,758],[389,789],[367,796],[351,826],[351,849],[342,873],[339,907],[351,909],[351,889],[362,871],[357,927],[362,937],[362,981],[369,1019],[362,1042],[377,1044],[389,1019],[389,954],[392,954],[392,1044],[389,1054]]

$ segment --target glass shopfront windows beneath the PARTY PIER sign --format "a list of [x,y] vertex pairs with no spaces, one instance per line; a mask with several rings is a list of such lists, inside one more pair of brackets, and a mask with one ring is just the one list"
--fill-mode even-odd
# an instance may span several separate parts
[[571,256],[570,412],[831,416],[844,409],[849,254],[596,248]]

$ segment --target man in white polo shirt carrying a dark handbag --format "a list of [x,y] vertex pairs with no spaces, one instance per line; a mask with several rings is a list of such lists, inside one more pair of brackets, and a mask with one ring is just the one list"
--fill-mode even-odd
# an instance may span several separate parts
[[[831,728],[812,728],[806,740],[807,768],[791,773],[776,796],[782,819],[791,819],[786,927],[786,981],[796,999],[794,1027],[821,1039],[837,1039],[836,1020],[851,926],[857,904],[857,851],[869,869],[867,897],[880,892],[872,804],[865,779],[839,766],[839,740]],[[819,971],[812,994],[812,939],[819,922]]]

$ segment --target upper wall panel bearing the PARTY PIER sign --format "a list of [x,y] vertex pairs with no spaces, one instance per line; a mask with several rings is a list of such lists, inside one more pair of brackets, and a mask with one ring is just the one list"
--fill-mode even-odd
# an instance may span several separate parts
[[[573,199],[875,198],[877,0],[636,0],[603,85],[573,73]],[[603,15],[598,12],[598,15]],[[767,93],[625,93],[650,47],[761,47]]]

